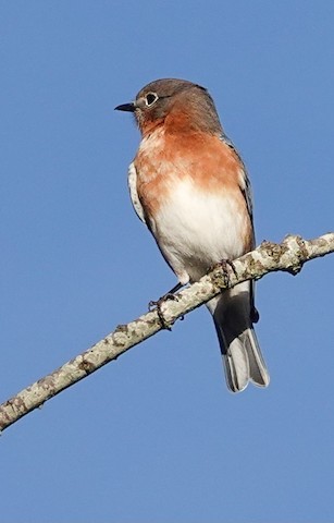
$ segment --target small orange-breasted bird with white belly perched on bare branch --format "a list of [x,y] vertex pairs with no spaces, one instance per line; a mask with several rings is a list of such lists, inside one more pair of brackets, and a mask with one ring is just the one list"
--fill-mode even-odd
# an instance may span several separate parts
[[[255,248],[247,170],[207,88],[156,80],[115,110],[132,112],[141,133],[128,188],[134,210],[177,277],[171,292]],[[253,282],[245,281],[207,303],[232,392],[270,380],[253,329]]]

